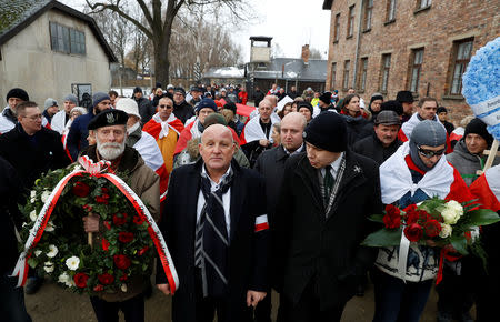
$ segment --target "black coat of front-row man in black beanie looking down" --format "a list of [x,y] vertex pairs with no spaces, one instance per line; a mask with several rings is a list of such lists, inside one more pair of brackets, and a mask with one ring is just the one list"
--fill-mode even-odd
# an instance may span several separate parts
[[376,229],[367,217],[382,211],[377,164],[346,151],[346,171],[328,219],[318,170],[306,153],[288,159],[282,185],[274,218],[280,244],[272,255],[283,276],[278,290],[282,286],[281,294],[297,304],[312,282],[320,310],[346,303],[377,255],[376,249],[360,246]]

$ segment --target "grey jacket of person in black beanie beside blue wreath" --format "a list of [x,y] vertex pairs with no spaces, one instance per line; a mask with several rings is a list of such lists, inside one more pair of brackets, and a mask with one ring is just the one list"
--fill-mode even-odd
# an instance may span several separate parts
[[[487,157],[480,157],[469,152],[464,140],[460,140],[456,145],[452,153],[447,154],[447,161],[453,165],[460,175],[466,181],[467,185],[471,185],[476,179],[478,179],[478,170],[482,170],[484,167]],[[493,165],[500,163],[500,158],[497,157],[493,161]]]

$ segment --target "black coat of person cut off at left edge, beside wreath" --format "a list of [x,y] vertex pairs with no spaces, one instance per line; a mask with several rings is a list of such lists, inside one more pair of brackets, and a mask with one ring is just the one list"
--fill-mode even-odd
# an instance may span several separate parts
[[0,157],[0,244],[2,249],[0,274],[12,273],[19,256],[14,225],[20,230],[23,222],[23,217],[18,209],[18,203],[22,204],[26,201],[21,197],[21,191],[18,172]]

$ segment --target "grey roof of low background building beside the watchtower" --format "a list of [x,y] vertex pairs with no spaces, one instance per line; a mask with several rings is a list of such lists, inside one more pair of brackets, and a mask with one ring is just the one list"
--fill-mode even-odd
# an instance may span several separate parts
[[[284,72],[283,72],[284,66]],[[326,81],[327,60],[310,59],[304,63],[300,58],[273,58],[266,69],[254,71],[256,79],[300,79],[301,81]]]

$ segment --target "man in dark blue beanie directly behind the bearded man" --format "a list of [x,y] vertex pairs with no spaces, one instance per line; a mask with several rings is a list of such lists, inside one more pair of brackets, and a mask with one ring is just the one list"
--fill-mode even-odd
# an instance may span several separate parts
[[89,137],[89,130],[87,127],[93,117],[102,111],[111,109],[111,99],[104,92],[97,92],[92,97],[92,112],[83,114],[74,119],[68,133],[67,148],[70,152],[71,159],[77,161],[78,153],[89,145],[87,137]]

